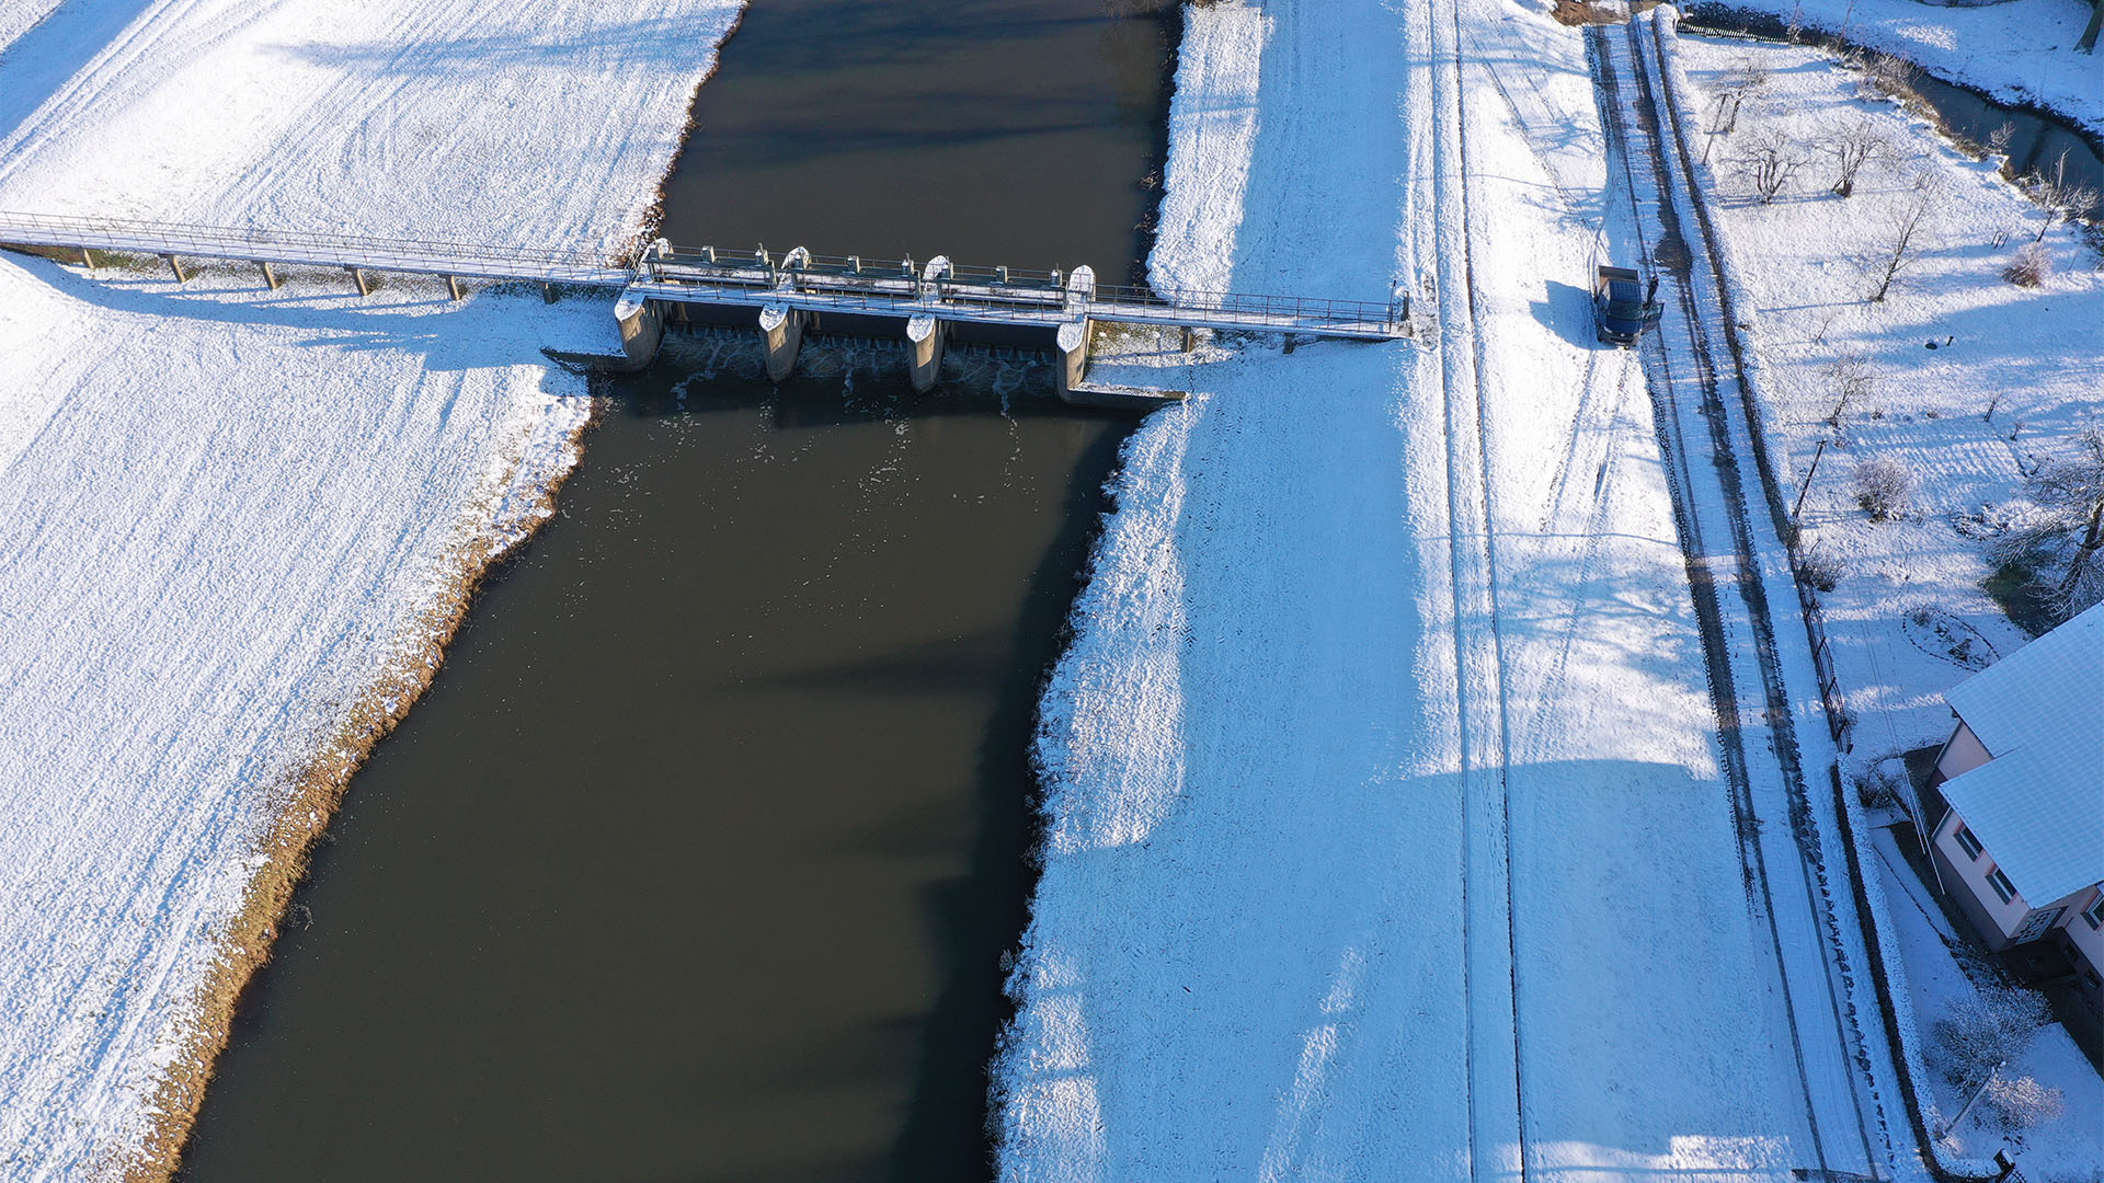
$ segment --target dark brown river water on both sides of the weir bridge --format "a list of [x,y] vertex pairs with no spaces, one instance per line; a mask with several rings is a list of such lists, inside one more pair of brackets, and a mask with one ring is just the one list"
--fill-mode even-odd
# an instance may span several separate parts
[[[1174,27],[755,0],[680,242],[1142,248]],[[1174,15],[1170,17],[1174,19]],[[985,1179],[1029,730],[1134,419],[1041,362],[667,337],[356,777],[181,1179]]]

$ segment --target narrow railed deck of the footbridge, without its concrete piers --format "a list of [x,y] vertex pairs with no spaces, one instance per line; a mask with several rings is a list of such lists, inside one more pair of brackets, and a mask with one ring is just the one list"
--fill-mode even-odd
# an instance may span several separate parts
[[1387,341],[1408,337],[1408,301],[1387,305],[1237,293],[1180,293],[1164,299],[1147,288],[1098,286],[1084,272],[959,267],[949,259],[863,261],[791,250],[720,253],[652,244],[635,267],[612,267],[585,253],[467,246],[326,234],[271,234],[124,219],[74,219],[0,213],[0,242],[50,248],[93,248],[126,255],[238,259],[288,267],[345,267],[526,280],[625,288],[631,297],[671,303],[793,307],[861,316],[959,320],[976,324],[1041,324],[1111,320],[1182,328],[1304,333]]

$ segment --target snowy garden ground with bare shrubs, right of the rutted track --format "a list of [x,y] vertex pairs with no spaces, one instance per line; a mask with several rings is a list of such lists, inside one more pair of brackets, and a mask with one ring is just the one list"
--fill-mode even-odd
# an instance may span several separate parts
[[[1843,564],[1820,598],[1858,716],[1847,764],[1896,770],[1900,754],[1948,735],[1942,693],[2024,642],[1984,589],[1988,524],[2024,495],[2024,474],[2041,457],[2068,455],[2104,413],[2104,276],[2096,250],[2062,225],[2045,234],[2054,276],[2039,288],[2005,282],[2003,267],[2043,225],[2039,208],[1992,162],[1965,158],[1927,122],[1868,99],[1860,76],[1828,55],[1685,38],[1683,61],[1708,97],[1744,80],[1748,61],[1765,63],[1767,80],[1744,103],[1738,131],[1713,145],[1717,208],[1746,263],[1759,349],[1780,398],[1776,421],[1799,480],[1824,444],[1803,526]],[[1866,164],[1843,200],[1826,192],[1833,162],[1818,145],[1858,120],[1891,152]],[[1761,204],[1732,160],[1769,133],[1801,145],[1805,171],[1791,192]],[[1870,303],[1875,274],[1864,261],[1889,250],[1894,215],[1923,192],[1931,215],[1921,259],[1885,301]],[[1847,358],[1873,381],[1837,423],[1835,366]],[[1858,465],[1877,457],[1898,459],[1917,478],[1896,520],[1873,522],[1858,505]],[[1881,884],[1866,886],[1879,893]],[[1915,1029],[1925,1036],[1955,996],[1948,983],[1963,975],[1940,945],[1934,964],[1906,895],[1881,895],[1887,920],[1908,937],[1894,977],[1913,987]],[[2030,1135],[2024,1166],[2041,1179],[2091,1179],[2104,1162],[2096,1074],[2058,1027],[2045,1042],[2066,1044],[2066,1055],[2041,1052],[2041,1071],[2056,1074],[2045,1082],[2068,1095],[2068,1116]],[[1929,1078],[1942,1114],[1959,1109],[1963,1097],[1938,1076],[1917,1076]],[[1978,1162],[1999,1145],[1974,1132],[1969,1149],[1967,1139],[1944,1149]]]

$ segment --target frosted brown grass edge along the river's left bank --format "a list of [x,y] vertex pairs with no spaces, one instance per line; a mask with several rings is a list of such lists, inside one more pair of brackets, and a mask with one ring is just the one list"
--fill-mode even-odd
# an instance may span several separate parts
[[[680,147],[661,164],[656,185],[640,202],[640,213],[623,242],[640,246],[663,223],[665,185],[696,126],[694,101],[701,88],[715,78],[724,46],[745,23],[747,11],[749,2],[739,8],[724,36],[717,38],[707,67],[688,88],[686,114],[680,120]],[[547,362],[547,366],[558,368],[555,362]],[[337,810],[343,808],[358,768],[431,688],[444,665],[446,646],[473,608],[476,592],[505,558],[518,554],[543,524],[553,520],[558,495],[583,463],[585,438],[604,415],[604,398],[593,392],[587,392],[587,398],[589,410],[585,415],[574,423],[558,425],[562,434],[555,442],[558,459],[545,472],[530,476],[534,453],[528,432],[524,455],[497,482],[497,503],[469,505],[465,514],[469,524],[463,526],[461,541],[440,556],[438,566],[444,573],[440,585],[444,589],[421,610],[408,615],[398,640],[389,644],[391,655],[385,665],[349,703],[339,724],[313,745],[311,754],[295,762],[292,773],[265,789],[265,796],[271,798],[271,804],[265,806],[269,817],[261,827],[263,838],[248,853],[257,871],[242,895],[242,907],[217,941],[213,968],[191,996],[187,1038],[162,1069],[160,1084],[149,1092],[141,1141],[116,1149],[114,1160],[95,1170],[97,1177],[122,1179],[122,1183],[166,1183],[175,1177],[189,1130],[204,1107],[219,1055],[234,1036],[234,1017],[242,996],[276,951],[292,895],[307,878],[313,846],[328,834]],[[505,501],[513,497],[524,497],[524,507],[505,509]]]

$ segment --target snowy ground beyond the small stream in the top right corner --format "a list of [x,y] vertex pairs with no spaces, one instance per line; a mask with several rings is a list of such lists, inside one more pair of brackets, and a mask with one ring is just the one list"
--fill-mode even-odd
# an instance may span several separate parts
[[1807,29],[1906,57],[2005,103],[2049,107],[2104,135],[2104,46],[2075,51],[2089,25],[2089,0],[1702,0],[1687,8],[1694,17],[1706,8],[1740,8],[1778,21],[1795,15]]

